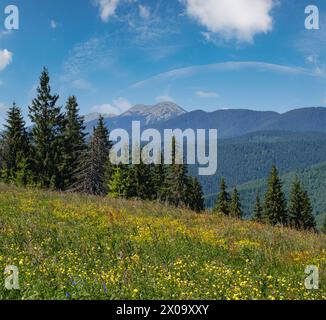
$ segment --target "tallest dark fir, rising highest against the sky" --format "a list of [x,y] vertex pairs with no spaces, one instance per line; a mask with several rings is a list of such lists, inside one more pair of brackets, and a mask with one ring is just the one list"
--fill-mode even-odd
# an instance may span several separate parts
[[41,187],[61,189],[63,154],[63,115],[57,106],[58,95],[52,95],[46,68],[40,76],[37,97],[29,107],[32,121],[34,174]]

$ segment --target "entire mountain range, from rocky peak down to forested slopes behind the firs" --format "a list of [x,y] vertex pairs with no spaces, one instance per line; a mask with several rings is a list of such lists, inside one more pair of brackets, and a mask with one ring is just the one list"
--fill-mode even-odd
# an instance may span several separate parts
[[[98,114],[86,119],[90,133]],[[213,176],[199,177],[212,207],[222,177],[230,187],[238,185],[247,215],[257,191],[264,191],[270,168],[276,164],[285,180],[287,196],[295,174],[302,176],[314,200],[318,221],[326,213],[326,108],[294,109],[286,113],[253,110],[217,110],[186,112],[172,102],[146,106],[136,105],[119,115],[105,116],[109,130],[130,132],[132,121],[143,129],[217,129],[219,137],[218,170]],[[304,170],[304,171],[302,171]],[[196,175],[196,166],[189,171]],[[322,186],[322,187],[321,187]]]

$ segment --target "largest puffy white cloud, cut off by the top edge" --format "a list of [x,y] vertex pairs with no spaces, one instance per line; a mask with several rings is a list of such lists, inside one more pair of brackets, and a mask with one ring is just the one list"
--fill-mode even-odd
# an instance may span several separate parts
[[190,17],[227,40],[252,42],[256,34],[273,29],[274,0],[182,1]]

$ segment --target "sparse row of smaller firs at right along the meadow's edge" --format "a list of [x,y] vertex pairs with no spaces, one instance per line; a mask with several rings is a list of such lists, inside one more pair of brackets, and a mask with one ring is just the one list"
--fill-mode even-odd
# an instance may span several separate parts
[[[293,182],[288,203],[282,187],[278,170],[273,165],[268,178],[268,188],[264,201],[261,200],[259,193],[256,195],[252,219],[261,223],[269,223],[273,226],[282,225],[298,230],[315,231],[316,221],[313,215],[311,201],[308,193],[303,189],[299,178],[296,177]],[[221,181],[220,192],[217,196],[214,212],[236,218],[243,217],[239,192],[235,187],[232,195],[230,195],[227,191],[225,179]]]

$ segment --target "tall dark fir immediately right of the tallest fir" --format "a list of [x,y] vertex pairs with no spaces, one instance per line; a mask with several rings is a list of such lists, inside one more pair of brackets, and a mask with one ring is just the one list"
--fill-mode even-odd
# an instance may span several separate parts
[[76,182],[74,181],[74,172],[78,169],[78,159],[86,148],[84,117],[79,115],[75,96],[68,98],[65,109],[62,163],[64,189],[69,188]]

